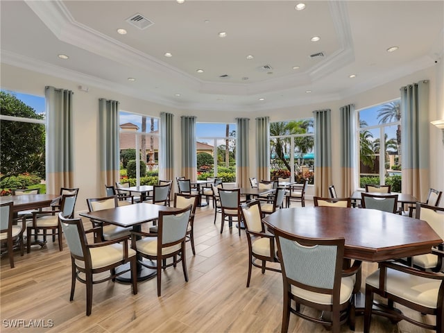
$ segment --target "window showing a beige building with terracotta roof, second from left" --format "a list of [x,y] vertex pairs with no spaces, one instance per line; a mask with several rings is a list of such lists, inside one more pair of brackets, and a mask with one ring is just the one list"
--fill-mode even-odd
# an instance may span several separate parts
[[159,119],[121,111],[119,123],[121,182],[131,186],[157,184]]

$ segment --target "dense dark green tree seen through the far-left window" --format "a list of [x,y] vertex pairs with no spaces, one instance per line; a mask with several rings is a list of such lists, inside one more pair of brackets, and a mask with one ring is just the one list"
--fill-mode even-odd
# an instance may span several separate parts
[[[0,114],[44,119],[33,108],[8,92],[0,92]],[[0,173],[2,178],[34,173],[45,176],[45,126],[41,123],[1,120]]]

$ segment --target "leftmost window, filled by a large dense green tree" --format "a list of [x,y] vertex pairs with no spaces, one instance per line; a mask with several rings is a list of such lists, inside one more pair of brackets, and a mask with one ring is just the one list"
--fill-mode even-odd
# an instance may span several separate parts
[[17,187],[46,193],[44,97],[1,90],[0,103],[1,195]]

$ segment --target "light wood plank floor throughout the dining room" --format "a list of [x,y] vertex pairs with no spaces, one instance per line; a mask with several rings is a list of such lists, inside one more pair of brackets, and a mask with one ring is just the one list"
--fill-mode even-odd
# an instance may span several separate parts
[[[311,205],[308,202],[307,205]],[[293,203],[293,205],[298,205]],[[127,284],[104,282],[93,291],[92,315],[85,316],[85,285],[77,282],[74,301],[69,302],[71,262],[64,242],[44,248],[33,247],[20,257],[15,268],[1,258],[1,332],[280,332],[282,316],[282,278],[280,273],[264,275],[253,267],[250,287],[246,288],[248,246],[246,234],[225,224],[220,216],[213,224],[211,205],[198,208],[195,220],[196,256],[187,243],[189,282],[182,268],[162,273],[162,296],[157,298],[156,280],[138,284],[133,295]],[[89,221],[84,221],[89,227]],[[26,252],[26,251],[25,251]],[[376,269],[364,263],[364,277]],[[403,309],[404,310],[404,309]],[[305,311],[314,311],[306,309]],[[414,318],[432,318],[414,312]],[[12,320],[23,320],[21,327],[6,327]],[[24,327],[40,321],[53,327]],[[24,323],[24,324],[23,324]],[[38,323],[38,322],[37,322]],[[356,331],[363,331],[363,318],[357,317]],[[291,316],[289,332],[327,332],[320,325]],[[347,325],[341,332],[352,332]],[[393,325],[373,316],[371,332],[430,332],[409,323]]]

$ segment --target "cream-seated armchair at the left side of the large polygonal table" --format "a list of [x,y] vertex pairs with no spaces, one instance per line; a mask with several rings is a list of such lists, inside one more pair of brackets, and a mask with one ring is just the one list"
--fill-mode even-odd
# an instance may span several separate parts
[[[248,276],[247,288],[250,287],[251,268],[253,266],[261,268],[262,274],[266,270],[281,272],[280,268],[266,266],[267,262],[279,262],[275,247],[275,237],[273,234],[265,231],[262,223],[262,210],[259,200],[251,200],[241,206],[242,219],[245,225],[245,231],[248,241]],[[256,263],[260,260],[260,264]]]

